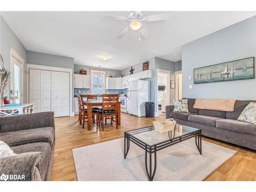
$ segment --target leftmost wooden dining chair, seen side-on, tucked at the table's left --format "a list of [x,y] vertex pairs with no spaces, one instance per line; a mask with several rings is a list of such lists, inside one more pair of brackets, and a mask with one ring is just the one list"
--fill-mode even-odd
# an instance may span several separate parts
[[[82,128],[84,128],[84,122],[87,122],[89,120],[87,118],[88,117],[88,111],[87,111],[87,106],[84,105],[82,95],[79,94],[78,96],[79,96],[80,113],[81,113],[81,115],[80,115],[80,124],[82,124]],[[97,123],[97,126],[98,126],[98,112],[97,111],[92,110],[92,119],[90,119],[90,120],[93,121],[93,123],[95,123],[95,115],[96,115],[96,123]]]

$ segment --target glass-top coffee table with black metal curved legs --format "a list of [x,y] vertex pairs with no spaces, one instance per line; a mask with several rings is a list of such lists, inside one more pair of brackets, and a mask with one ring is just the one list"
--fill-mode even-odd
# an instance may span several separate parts
[[[196,146],[202,155],[202,131],[193,127],[176,124],[174,131],[159,133],[154,126],[124,132],[124,159],[129,149],[130,141],[145,150],[145,167],[149,181],[153,181],[156,174],[157,152],[174,144],[195,137]],[[149,167],[147,165],[149,156]],[[152,154],[154,154],[154,169],[152,169]]]

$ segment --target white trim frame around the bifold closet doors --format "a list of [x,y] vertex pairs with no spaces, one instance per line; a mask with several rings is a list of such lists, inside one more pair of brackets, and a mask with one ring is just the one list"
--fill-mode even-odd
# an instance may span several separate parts
[[[69,116],[74,116],[75,113],[73,112],[73,69],[71,68],[60,68],[60,67],[52,67],[52,66],[41,66],[36,64],[27,64],[27,70],[29,69],[38,69],[38,70],[46,70],[46,71],[58,71],[58,72],[67,72],[69,73],[70,85],[69,85]],[[29,102],[29,78],[27,79],[27,102]]]

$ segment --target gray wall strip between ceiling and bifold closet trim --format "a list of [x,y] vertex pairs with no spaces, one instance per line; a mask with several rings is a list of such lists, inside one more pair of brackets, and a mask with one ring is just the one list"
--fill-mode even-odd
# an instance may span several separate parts
[[74,69],[74,58],[63,57],[59,55],[51,55],[46,53],[39,53],[34,51],[27,52],[27,63],[42,65],[42,66]]

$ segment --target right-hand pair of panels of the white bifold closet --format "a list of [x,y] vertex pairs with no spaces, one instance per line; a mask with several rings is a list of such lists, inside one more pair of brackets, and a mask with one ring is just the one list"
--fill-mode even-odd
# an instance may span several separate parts
[[55,117],[69,116],[69,73],[51,72],[51,111]]

